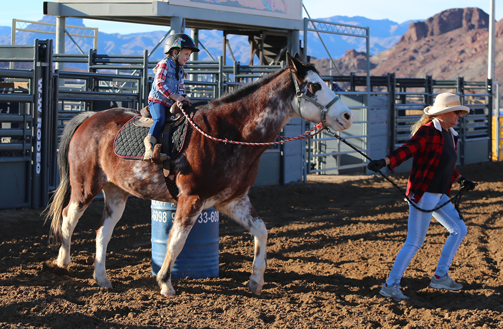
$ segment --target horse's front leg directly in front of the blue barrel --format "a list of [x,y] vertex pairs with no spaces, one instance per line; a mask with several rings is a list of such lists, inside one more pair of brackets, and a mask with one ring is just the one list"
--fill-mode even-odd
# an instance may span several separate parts
[[178,201],[173,226],[167,239],[166,256],[157,273],[160,293],[166,297],[175,296],[175,289],[171,284],[171,271],[175,260],[184,248],[185,240],[192,226],[194,226],[202,210],[203,202],[198,196],[181,196]]

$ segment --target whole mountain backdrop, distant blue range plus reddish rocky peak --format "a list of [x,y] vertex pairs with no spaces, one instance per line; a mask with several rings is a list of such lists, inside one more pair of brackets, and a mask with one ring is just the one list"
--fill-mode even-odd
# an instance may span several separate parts
[[[333,16],[323,18],[333,23],[351,24],[370,27],[371,33],[371,75],[386,75],[394,72],[397,77],[425,77],[432,75],[436,79],[453,79],[464,76],[467,80],[485,80],[487,76],[487,39],[488,15],[478,8],[454,8],[436,14],[426,20],[408,21],[401,24],[390,20],[370,20],[365,17]],[[45,16],[41,21],[54,22],[52,16]],[[408,26],[404,26],[408,23]],[[82,19],[66,18],[67,25],[83,25]],[[0,44],[10,44],[11,29],[0,27]],[[166,31],[157,30],[148,33],[107,34],[99,32],[99,53],[142,54],[144,49],[151,50]],[[35,33],[19,33],[17,44],[33,43]],[[46,39],[47,35],[40,39]],[[496,56],[494,81],[502,80],[503,66],[503,20],[496,22]],[[324,43],[337,48],[331,52],[336,60],[334,75],[349,75],[351,72],[366,74],[366,47],[364,38],[351,38],[340,35],[322,34]],[[200,41],[216,58],[221,55],[222,34],[215,30],[201,30]],[[23,43],[25,42],[25,43]],[[88,43],[79,41],[83,50]],[[249,44],[245,36],[229,36],[229,42],[236,60],[249,61]],[[344,43],[343,43],[344,42]],[[342,46],[344,45],[344,47]],[[67,53],[77,53],[74,45],[68,46]],[[308,54],[322,75],[328,75],[329,59],[319,38],[310,35]],[[159,47],[150,58],[161,58]],[[230,55],[229,55],[230,56]],[[209,59],[204,50],[200,59]],[[228,57],[228,61],[232,59]]]

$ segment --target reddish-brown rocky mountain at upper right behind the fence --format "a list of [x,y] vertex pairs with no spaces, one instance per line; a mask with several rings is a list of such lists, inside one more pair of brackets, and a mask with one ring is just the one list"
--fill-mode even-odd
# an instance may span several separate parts
[[[410,23],[394,46],[370,58],[371,75],[483,81],[487,78],[489,16],[478,8],[450,9]],[[494,81],[503,82],[503,20],[496,22]],[[329,60],[312,60],[328,74]],[[366,74],[365,53],[347,51],[336,63],[343,75]],[[334,72],[333,74],[338,74]]]

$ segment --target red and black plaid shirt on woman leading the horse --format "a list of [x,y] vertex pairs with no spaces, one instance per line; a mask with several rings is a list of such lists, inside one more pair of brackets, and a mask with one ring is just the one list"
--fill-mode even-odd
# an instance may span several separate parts
[[[454,136],[454,146],[457,147],[458,137]],[[442,131],[435,128],[433,121],[421,126],[417,132],[402,146],[389,153],[386,157],[390,160],[388,168],[395,169],[401,163],[413,156],[412,170],[407,182],[407,196],[414,202],[419,202],[428,189],[433,175],[440,162],[444,149],[444,136]],[[454,166],[451,183],[459,176]],[[447,191],[447,195],[451,188]]]

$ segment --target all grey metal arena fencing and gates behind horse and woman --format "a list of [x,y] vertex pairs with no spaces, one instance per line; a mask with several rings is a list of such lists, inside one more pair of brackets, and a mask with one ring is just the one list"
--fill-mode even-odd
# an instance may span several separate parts
[[[148,60],[146,51],[142,56],[100,55],[94,50],[80,55],[52,54],[51,40],[35,40],[32,46],[1,46],[1,50],[0,61],[26,62],[32,68],[0,69],[0,170],[9,173],[0,181],[0,208],[45,206],[49,191],[58,183],[56,150],[66,122],[82,111],[146,106],[153,80],[150,69],[157,61]],[[84,63],[88,71],[53,70],[53,62]],[[221,57],[217,61],[189,62],[186,91],[194,101],[210,100],[282,66],[223,65]],[[486,161],[491,156],[494,92],[490,80],[435,80],[429,76],[400,79],[389,73],[371,77],[367,88],[368,76],[323,78],[329,84],[350,85],[348,91],[337,94],[355,114],[354,124],[340,135],[371,157],[382,157],[407,140],[411,123],[444,91],[460,95],[462,103],[472,110],[457,128],[459,163]],[[498,118],[496,123],[501,121]],[[498,132],[497,147],[501,134],[498,127],[494,128]],[[302,120],[291,120],[282,135],[294,136],[307,129]],[[499,148],[495,153],[499,154]],[[258,183],[281,184],[296,181],[296,175],[305,179],[307,174],[364,174],[366,162],[349,146],[323,132],[307,144],[296,141],[268,149],[261,160],[261,164],[266,163],[262,172],[265,179],[258,179]],[[300,174],[292,169],[293,163],[299,163]],[[286,174],[287,168],[295,174]]]

